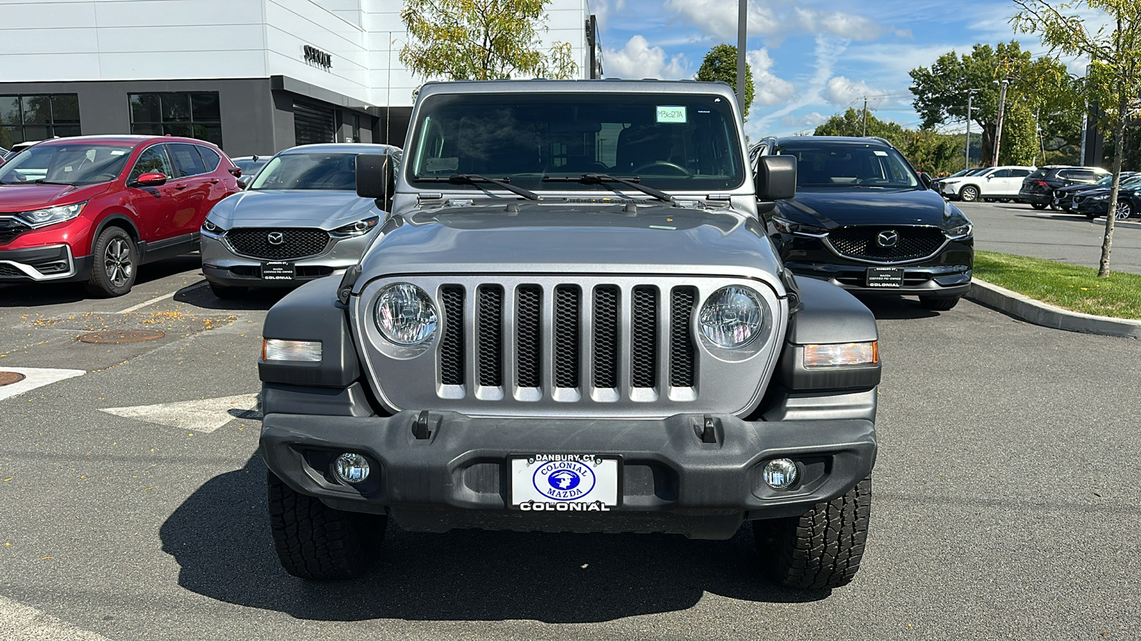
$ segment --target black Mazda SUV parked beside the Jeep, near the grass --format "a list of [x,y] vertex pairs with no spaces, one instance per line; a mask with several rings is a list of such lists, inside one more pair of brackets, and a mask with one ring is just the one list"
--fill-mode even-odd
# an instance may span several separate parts
[[[970,219],[928,188],[882,138],[767,138],[750,152],[796,156],[796,196],[763,214],[785,266],[847,290],[955,307],[971,286]],[[769,205],[771,208],[771,205]],[[762,208],[763,211],[763,208]]]

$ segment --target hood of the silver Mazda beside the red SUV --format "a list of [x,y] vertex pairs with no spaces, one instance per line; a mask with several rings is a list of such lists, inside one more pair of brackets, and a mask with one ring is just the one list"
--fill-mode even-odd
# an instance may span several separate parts
[[319,227],[335,229],[378,216],[372,198],[339,189],[266,189],[240,192],[215,205],[209,219],[233,227]]

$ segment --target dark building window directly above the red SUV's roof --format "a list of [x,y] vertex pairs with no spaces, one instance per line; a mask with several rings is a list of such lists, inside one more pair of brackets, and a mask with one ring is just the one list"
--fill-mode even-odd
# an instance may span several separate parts
[[131,133],[185,136],[221,147],[221,108],[217,91],[129,94]]

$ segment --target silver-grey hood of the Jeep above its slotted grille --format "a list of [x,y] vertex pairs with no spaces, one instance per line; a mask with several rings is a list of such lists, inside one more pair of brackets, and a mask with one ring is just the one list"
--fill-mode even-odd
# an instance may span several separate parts
[[[502,201],[501,201],[502,202]],[[726,209],[518,203],[396,216],[363,277],[405,273],[730,275],[769,282],[780,263],[756,220]]]

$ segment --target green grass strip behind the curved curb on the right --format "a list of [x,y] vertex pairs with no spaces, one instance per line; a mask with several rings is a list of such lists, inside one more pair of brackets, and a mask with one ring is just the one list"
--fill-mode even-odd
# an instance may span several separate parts
[[974,252],[974,276],[1073,311],[1141,319],[1141,275],[1098,270],[1052,260]]

